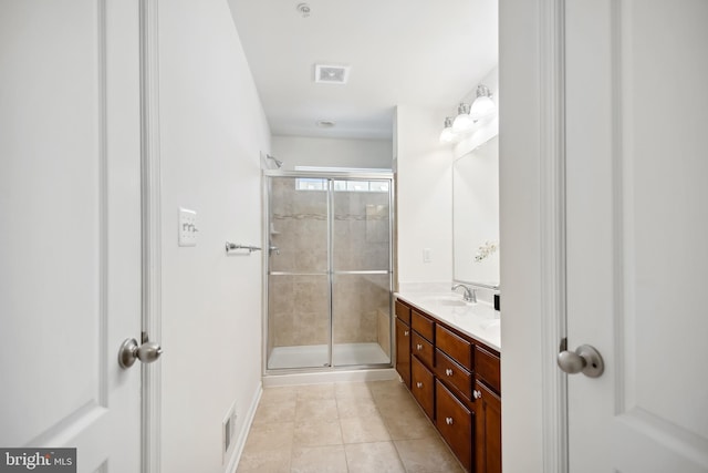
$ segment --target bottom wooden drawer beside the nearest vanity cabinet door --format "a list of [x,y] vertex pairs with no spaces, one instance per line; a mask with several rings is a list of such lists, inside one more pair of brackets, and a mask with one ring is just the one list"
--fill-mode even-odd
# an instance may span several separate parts
[[435,384],[436,426],[467,471],[472,466],[472,413],[440,382]]

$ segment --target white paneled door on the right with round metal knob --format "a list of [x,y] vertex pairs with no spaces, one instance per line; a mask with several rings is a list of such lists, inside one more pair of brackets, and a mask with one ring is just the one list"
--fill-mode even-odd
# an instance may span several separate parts
[[568,0],[572,473],[708,472],[708,1]]

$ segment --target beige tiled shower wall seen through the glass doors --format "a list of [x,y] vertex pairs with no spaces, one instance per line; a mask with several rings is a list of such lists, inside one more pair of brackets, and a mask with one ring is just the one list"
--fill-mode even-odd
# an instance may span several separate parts
[[[278,246],[280,255],[271,254],[270,270],[324,273],[327,193],[296,191],[295,185],[295,178],[271,179],[271,245]],[[333,208],[334,270],[387,270],[388,194],[337,191]],[[336,275],[333,282],[334,343],[379,342],[389,353],[389,276]],[[327,343],[327,290],[325,275],[271,275],[270,347]]]

